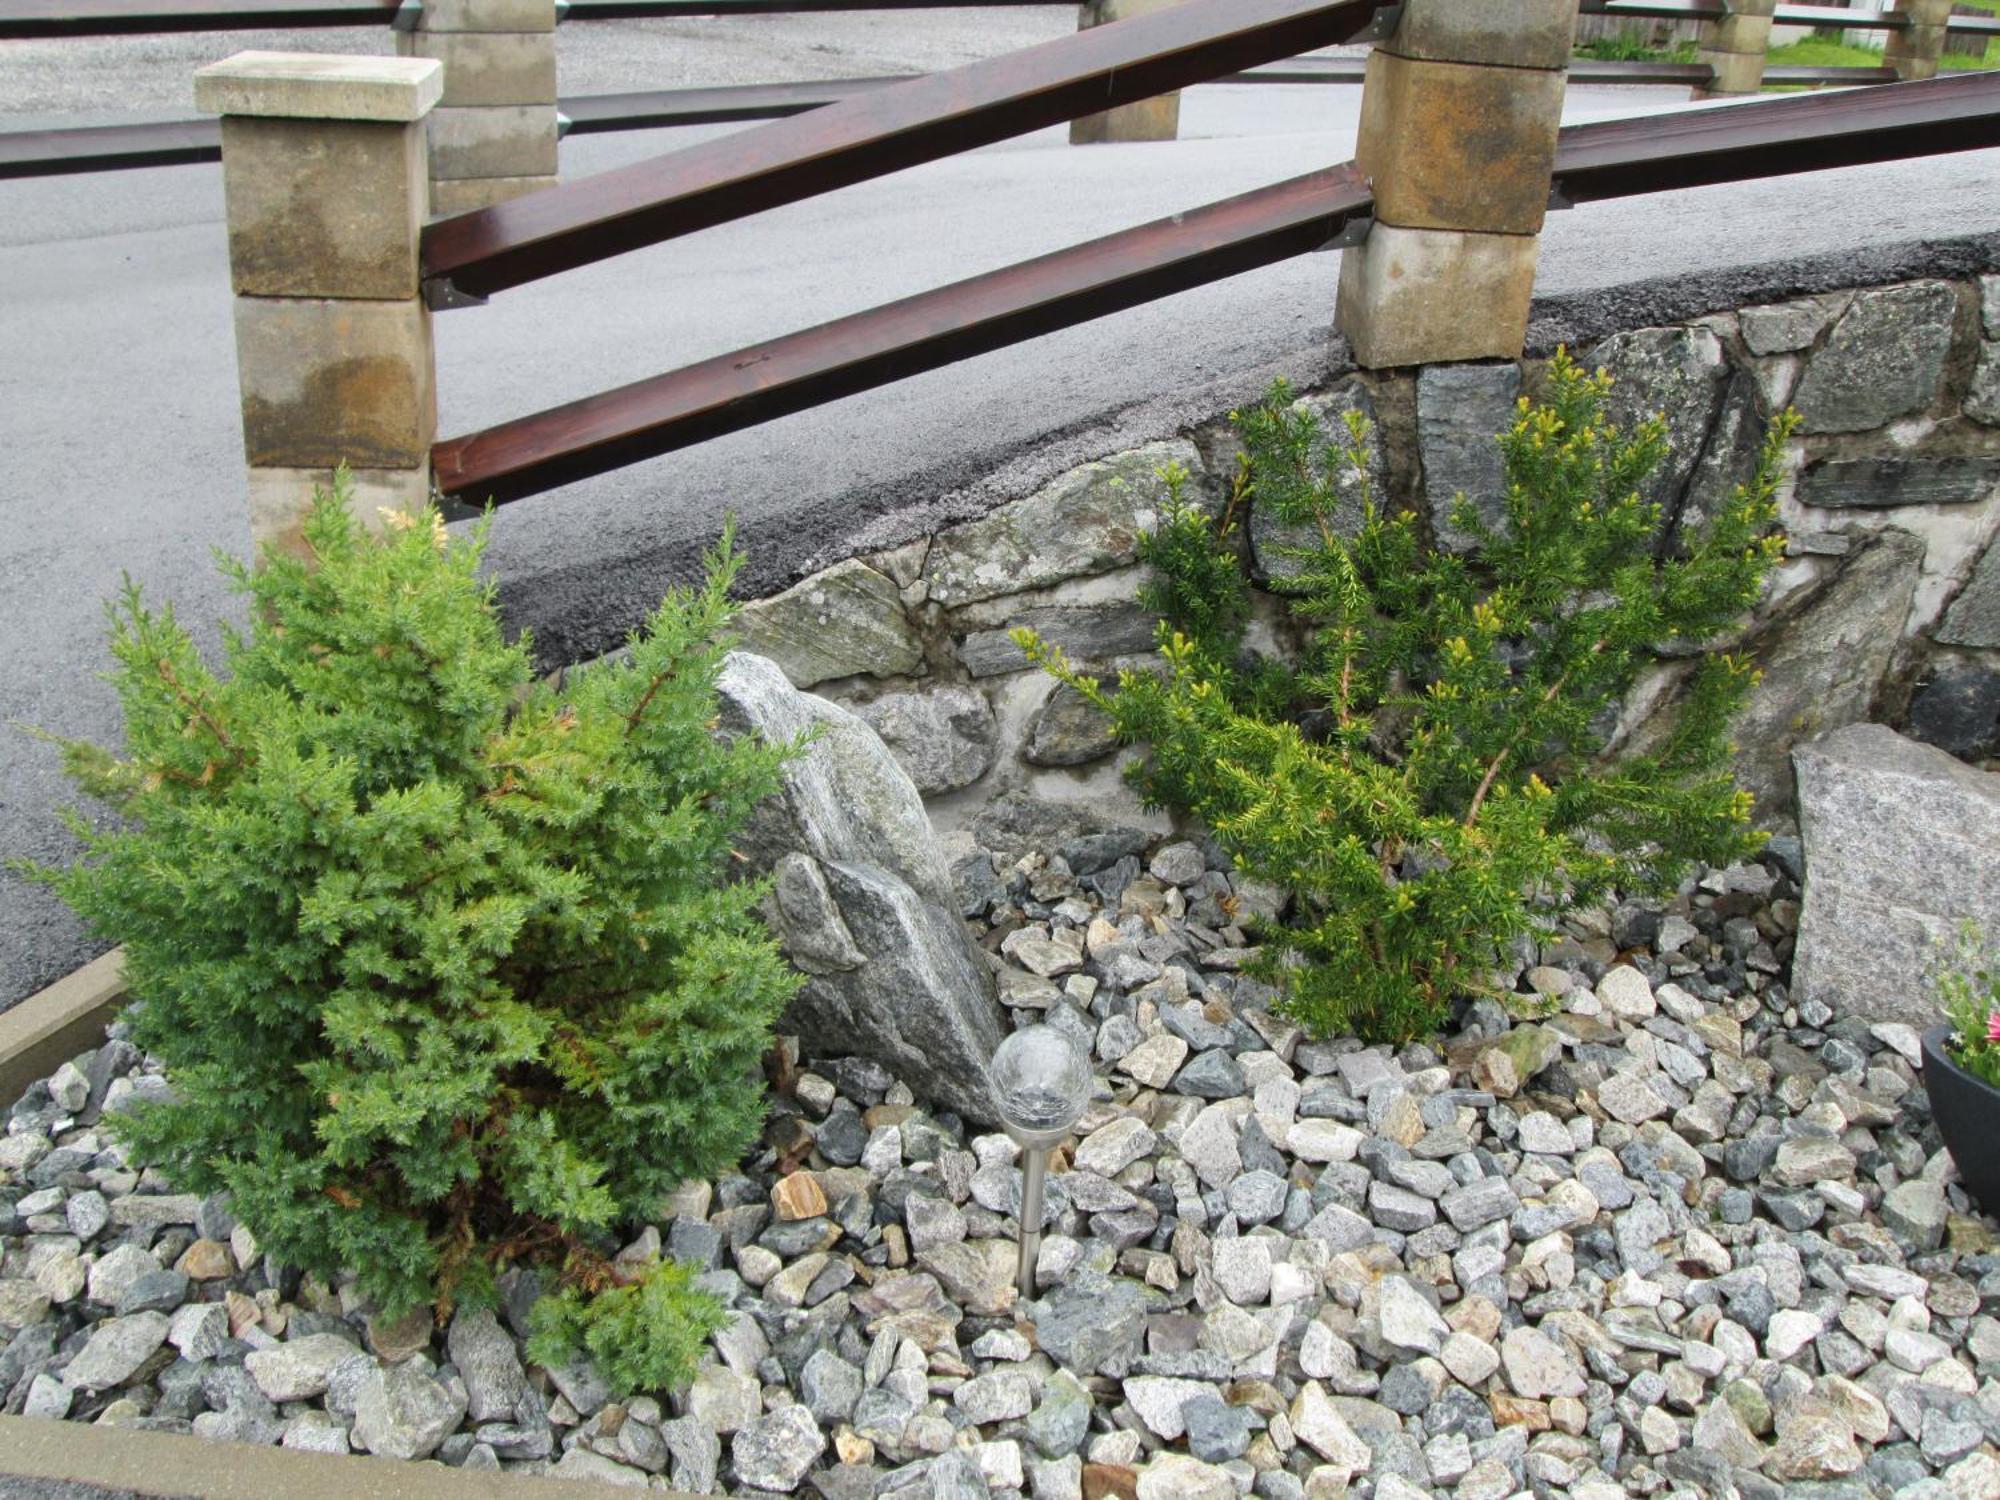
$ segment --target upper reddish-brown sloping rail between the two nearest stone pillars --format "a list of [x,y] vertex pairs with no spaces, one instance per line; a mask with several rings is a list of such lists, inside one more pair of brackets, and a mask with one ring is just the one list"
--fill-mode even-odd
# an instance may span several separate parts
[[1188,0],[432,224],[434,300],[680,234],[1366,32],[1388,0]]

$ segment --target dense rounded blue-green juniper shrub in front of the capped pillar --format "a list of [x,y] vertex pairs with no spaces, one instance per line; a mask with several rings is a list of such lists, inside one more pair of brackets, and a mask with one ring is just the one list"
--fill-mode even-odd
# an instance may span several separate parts
[[502,638],[484,528],[388,520],[368,536],[342,482],[310,560],[226,562],[252,620],[226,674],[132,584],[110,606],[128,750],[66,762],[122,818],[72,818],[84,858],[36,874],[124,944],[168,1070],[116,1128],[390,1316],[538,1266],[540,1358],[684,1382],[718,1306],[608,1252],[754,1140],[798,984],[726,878],[794,750],[710,734],[738,558],[724,534],[702,588],[558,688]]

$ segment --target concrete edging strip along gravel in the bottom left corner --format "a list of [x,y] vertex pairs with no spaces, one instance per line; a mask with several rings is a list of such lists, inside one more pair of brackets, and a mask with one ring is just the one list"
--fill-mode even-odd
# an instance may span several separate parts
[[[364,1454],[302,1454],[242,1442],[208,1442],[84,1422],[0,1416],[0,1492],[8,1480],[86,1484],[112,1496],[188,1500],[612,1500],[630,1488],[606,1480],[548,1478],[444,1464],[402,1464]],[[30,1490],[32,1494],[32,1490]],[[652,1494],[660,1494],[652,1490]],[[680,1494],[670,1492],[670,1494]],[[106,1498],[110,1500],[110,1498]],[[694,1500],[688,1496],[688,1500]]]

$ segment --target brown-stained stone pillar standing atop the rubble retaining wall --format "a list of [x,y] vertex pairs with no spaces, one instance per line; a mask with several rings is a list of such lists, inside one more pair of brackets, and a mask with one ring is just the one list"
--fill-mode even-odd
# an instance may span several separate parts
[[1334,314],[1360,364],[1520,354],[1574,34],[1576,0],[1406,0],[1368,58],[1376,224]]

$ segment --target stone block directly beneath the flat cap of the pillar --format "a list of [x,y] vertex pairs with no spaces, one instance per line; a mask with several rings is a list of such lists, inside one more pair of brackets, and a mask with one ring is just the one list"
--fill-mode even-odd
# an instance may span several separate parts
[[402,124],[224,116],[230,282],[238,296],[418,294],[424,142]]

